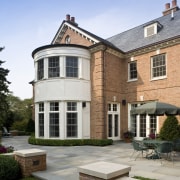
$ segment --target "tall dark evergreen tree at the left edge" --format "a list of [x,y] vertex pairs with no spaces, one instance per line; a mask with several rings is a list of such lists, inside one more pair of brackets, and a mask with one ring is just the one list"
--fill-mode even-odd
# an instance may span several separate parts
[[[3,49],[4,48],[0,48],[0,52]],[[8,111],[7,95],[9,93],[8,85],[10,84],[7,80],[9,70],[2,67],[3,63],[4,61],[0,60],[0,127],[2,126]]]

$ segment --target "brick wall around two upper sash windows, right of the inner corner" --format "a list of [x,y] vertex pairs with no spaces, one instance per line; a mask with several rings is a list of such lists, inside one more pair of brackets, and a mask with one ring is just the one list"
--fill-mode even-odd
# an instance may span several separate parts
[[[160,50],[160,54],[166,54],[167,78],[162,80],[151,80],[151,56],[157,55],[156,51],[134,57],[137,60],[138,81],[126,83],[126,98],[128,102],[140,101],[140,96],[144,96],[144,101],[159,100],[180,106],[180,45]],[[126,62],[126,67],[128,60]],[[127,76],[126,76],[127,80]]]

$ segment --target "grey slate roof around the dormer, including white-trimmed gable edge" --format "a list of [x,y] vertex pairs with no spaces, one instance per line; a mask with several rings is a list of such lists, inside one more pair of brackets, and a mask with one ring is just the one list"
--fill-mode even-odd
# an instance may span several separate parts
[[[153,23],[157,23],[160,26],[160,30],[155,35],[144,37],[144,28]],[[76,23],[64,20],[51,44],[54,44],[56,38],[61,32],[63,32],[64,26],[73,27],[80,33],[91,37],[95,42],[95,44],[92,46],[96,46],[99,43],[104,43],[114,49],[126,53],[143,47],[151,46],[153,44],[164,42],[169,39],[180,37],[180,10],[174,12],[174,18],[171,18],[171,14],[161,16],[140,26],[114,35],[108,39],[103,39],[83,28],[80,28]]]

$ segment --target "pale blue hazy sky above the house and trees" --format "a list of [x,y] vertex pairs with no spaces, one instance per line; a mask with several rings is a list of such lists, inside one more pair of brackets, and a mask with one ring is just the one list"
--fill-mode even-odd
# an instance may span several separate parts
[[0,0],[0,60],[14,96],[32,97],[34,49],[50,44],[66,14],[104,39],[162,16],[171,0]]

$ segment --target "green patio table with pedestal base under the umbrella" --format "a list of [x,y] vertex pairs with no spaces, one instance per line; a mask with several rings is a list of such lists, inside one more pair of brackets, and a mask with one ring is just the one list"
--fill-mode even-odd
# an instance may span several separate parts
[[145,146],[147,146],[149,149],[152,150],[151,153],[146,155],[147,159],[159,159],[157,152],[155,149],[158,147],[159,144],[162,144],[164,142],[171,142],[171,141],[163,141],[158,139],[146,139],[142,141]]

